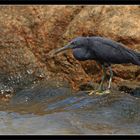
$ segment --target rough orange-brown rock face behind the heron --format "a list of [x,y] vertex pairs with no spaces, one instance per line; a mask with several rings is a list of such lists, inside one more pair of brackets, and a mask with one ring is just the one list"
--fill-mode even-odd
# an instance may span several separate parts
[[[93,79],[100,67],[78,62],[71,52],[47,58],[52,49],[77,36],[105,36],[140,51],[139,6],[2,6],[0,9],[0,88],[17,89],[42,78],[69,81],[74,89]],[[114,65],[115,83],[140,81],[138,66]]]

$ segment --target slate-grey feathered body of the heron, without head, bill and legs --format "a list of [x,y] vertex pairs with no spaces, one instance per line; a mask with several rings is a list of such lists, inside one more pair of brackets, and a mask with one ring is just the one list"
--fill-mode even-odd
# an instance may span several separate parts
[[84,46],[73,49],[79,61],[96,60],[100,63],[140,65],[140,54],[125,48],[123,44],[103,37],[87,37]]

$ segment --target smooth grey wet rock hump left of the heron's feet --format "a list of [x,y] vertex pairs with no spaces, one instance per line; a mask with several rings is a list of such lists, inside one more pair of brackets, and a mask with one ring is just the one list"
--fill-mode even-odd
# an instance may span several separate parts
[[57,100],[71,94],[72,89],[66,84],[57,81],[42,81],[30,88],[17,92],[10,100],[10,106],[27,106],[37,102],[48,102],[49,99]]

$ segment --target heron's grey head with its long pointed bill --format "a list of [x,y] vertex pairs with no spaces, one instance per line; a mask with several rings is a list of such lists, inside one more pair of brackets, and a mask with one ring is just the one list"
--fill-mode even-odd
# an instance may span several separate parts
[[80,47],[84,46],[86,43],[87,43],[86,37],[77,37],[77,38],[73,39],[70,43],[68,43],[66,46],[55,50],[55,52],[53,54],[55,55],[55,54],[58,54],[62,51],[68,50],[68,49],[80,48]]

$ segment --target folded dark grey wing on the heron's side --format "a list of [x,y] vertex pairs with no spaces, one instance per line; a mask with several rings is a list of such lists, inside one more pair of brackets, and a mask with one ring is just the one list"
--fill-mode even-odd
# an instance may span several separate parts
[[107,63],[130,63],[134,57],[134,54],[121,43],[109,39],[94,40],[91,49],[97,60]]

